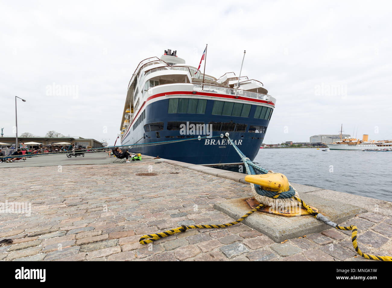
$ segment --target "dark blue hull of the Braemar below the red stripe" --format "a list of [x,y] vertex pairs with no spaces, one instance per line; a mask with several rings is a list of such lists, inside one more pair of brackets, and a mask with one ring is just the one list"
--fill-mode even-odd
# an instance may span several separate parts
[[[121,145],[132,145],[130,149],[132,152],[197,165],[240,163],[241,158],[234,150],[234,147],[229,144],[228,139],[220,137],[221,134],[228,132],[238,148],[250,160],[253,160],[263,143],[269,120],[254,118],[256,105],[252,105],[249,117],[213,115],[213,103],[214,100],[207,100],[204,114],[190,114],[168,113],[169,99],[153,102],[142,108],[142,117],[136,115],[136,119],[139,118],[139,121],[132,123],[129,130],[125,133]],[[145,112],[143,112],[144,110]],[[222,124],[220,127],[219,125],[214,125],[211,138],[198,139],[199,135],[197,134],[181,135],[178,127],[173,128],[171,126],[171,123],[174,121],[184,124],[187,122],[205,123],[206,125],[210,122]],[[145,128],[145,125],[149,123],[162,124],[154,125],[154,129],[157,130],[152,129],[151,131],[150,128]],[[245,125],[246,128],[243,128]],[[253,127],[252,125],[262,128],[256,131],[254,129],[249,131],[250,127]],[[147,126],[152,127],[152,125]],[[231,128],[228,128],[228,126]],[[206,137],[205,134],[200,136]],[[186,141],[148,145],[148,143],[178,140]]]

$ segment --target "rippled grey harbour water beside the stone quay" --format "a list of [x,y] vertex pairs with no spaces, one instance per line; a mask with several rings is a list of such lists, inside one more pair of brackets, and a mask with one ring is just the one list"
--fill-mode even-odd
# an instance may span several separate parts
[[[392,201],[391,158],[392,152],[286,148],[260,149],[254,162],[294,183]],[[239,165],[216,168],[246,173]]]

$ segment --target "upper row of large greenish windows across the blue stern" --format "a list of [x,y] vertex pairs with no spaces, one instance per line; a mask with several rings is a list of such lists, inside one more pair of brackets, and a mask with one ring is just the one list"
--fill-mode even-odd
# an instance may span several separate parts
[[[207,100],[195,98],[171,98],[167,112],[205,114]],[[249,117],[251,104],[234,103],[229,101],[214,100],[212,115]],[[270,120],[273,109],[265,106],[257,106],[254,118]]]

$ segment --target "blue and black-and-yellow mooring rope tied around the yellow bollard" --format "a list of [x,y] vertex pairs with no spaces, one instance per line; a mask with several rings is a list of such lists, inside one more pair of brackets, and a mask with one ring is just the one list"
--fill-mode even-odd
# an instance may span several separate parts
[[[246,171],[248,175],[255,175],[255,171],[254,168],[259,170],[262,174],[266,174],[269,172],[269,170],[266,170],[256,164],[254,164],[252,161],[250,161],[249,158],[247,158],[240,149],[238,149],[238,147],[233,143],[233,141],[230,139],[229,135],[226,134],[226,137],[229,139],[231,145],[233,145],[234,149],[238,152],[238,154],[241,156],[241,160],[243,161],[243,163],[245,164],[246,167]],[[259,186],[259,185],[255,185]],[[267,191],[264,189],[261,189],[259,187],[258,190],[256,190],[256,192],[260,195],[263,196],[267,196],[270,198],[294,198],[298,201],[298,203],[301,203],[301,205],[309,212],[310,215],[312,215],[313,217],[315,217],[316,219],[322,221],[323,223],[334,227],[338,230],[351,230],[352,234],[351,234],[351,241],[352,241],[352,245],[354,246],[355,251],[362,257],[364,257],[365,259],[373,259],[373,260],[380,260],[380,261],[392,261],[392,257],[391,256],[377,256],[377,255],[372,255],[372,254],[366,254],[363,253],[361,251],[361,249],[359,249],[358,247],[358,243],[357,243],[357,233],[358,233],[358,228],[354,225],[350,225],[350,226],[339,226],[338,224],[334,223],[333,221],[330,221],[327,217],[325,217],[323,214],[314,211],[312,208],[310,208],[309,205],[307,205],[303,200],[301,200],[298,196],[294,195],[296,190],[295,188],[293,188],[291,185],[289,186],[290,189],[289,191],[286,192],[272,192],[272,191]],[[268,192],[268,193],[267,193]],[[287,193],[289,192],[289,193]],[[293,193],[294,192],[294,193]],[[292,194],[292,196],[288,197],[290,194]],[[281,197],[284,196],[284,197]],[[232,225],[236,225],[238,223],[240,223],[241,221],[243,221],[246,217],[248,217],[249,215],[253,214],[254,212],[256,212],[259,208],[265,206],[264,204],[260,204],[258,205],[256,208],[250,210],[248,213],[246,213],[244,216],[242,216],[240,219],[236,220],[236,221],[232,221],[230,223],[225,223],[225,224],[212,224],[212,225],[182,225],[180,227],[171,229],[171,230],[166,230],[165,232],[159,232],[156,234],[147,234],[147,235],[143,235],[140,239],[139,239],[139,243],[142,245],[148,244],[148,243],[152,243],[153,241],[156,241],[158,239],[161,239],[163,237],[167,237],[170,235],[174,235],[180,232],[185,232],[188,229],[203,229],[203,228],[225,228],[225,227],[229,227]]]

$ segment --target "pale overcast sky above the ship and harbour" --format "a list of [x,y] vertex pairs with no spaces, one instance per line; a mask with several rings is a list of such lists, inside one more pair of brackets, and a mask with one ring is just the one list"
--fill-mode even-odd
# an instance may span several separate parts
[[[172,49],[197,67],[208,43],[206,74],[238,75],[246,50],[242,75],[277,99],[265,143],[341,123],[392,139],[390,11],[387,1],[1,1],[0,126],[15,135],[16,95],[27,100],[18,134],[113,145],[136,65]],[[53,95],[53,83],[74,94]]]

